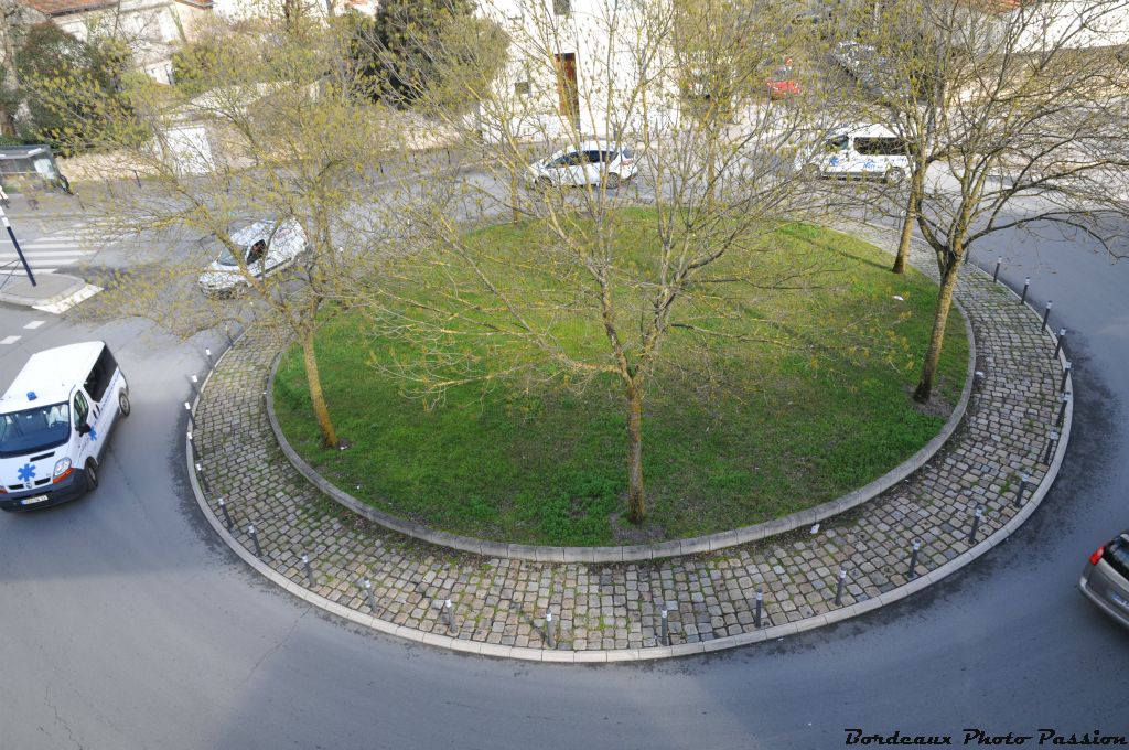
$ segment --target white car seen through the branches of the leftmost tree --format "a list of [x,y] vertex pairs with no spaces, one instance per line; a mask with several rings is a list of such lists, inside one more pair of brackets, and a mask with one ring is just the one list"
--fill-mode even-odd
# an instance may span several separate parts
[[[205,295],[230,295],[250,287],[251,279],[265,278],[294,265],[298,255],[309,250],[306,233],[296,219],[281,224],[256,221],[231,235],[243,258],[236,260],[227,247],[200,276],[200,289]],[[240,261],[243,267],[240,268]]]

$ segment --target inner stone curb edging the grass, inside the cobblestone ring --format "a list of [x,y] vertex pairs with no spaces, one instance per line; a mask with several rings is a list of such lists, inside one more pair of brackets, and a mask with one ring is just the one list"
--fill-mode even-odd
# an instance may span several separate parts
[[690,539],[675,539],[656,544],[630,544],[624,547],[542,547],[535,544],[508,544],[474,537],[461,537],[445,531],[436,531],[422,524],[405,521],[403,518],[383,513],[370,505],[361,503],[349,492],[343,491],[335,485],[327,481],[316,469],[310,466],[305,459],[298,455],[291,447],[282,433],[278,417],[274,413],[274,377],[278,374],[279,364],[286,350],[279,351],[271,363],[271,372],[266,378],[266,418],[274,433],[274,439],[287,460],[306,480],[317,487],[322,492],[333,498],[340,505],[369,521],[390,529],[406,537],[412,537],[430,544],[447,547],[463,552],[472,552],[484,557],[498,557],[513,560],[528,560],[533,562],[639,562],[646,560],[660,560],[667,557],[680,557],[683,555],[700,555],[703,552],[716,552],[728,547],[738,547],[753,541],[760,541],[778,534],[785,534],[796,529],[811,526],[820,521],[830,518],[858,507],[859,505],[874,499],[882,492],[902,481],[914,471],[924,466],[937,452],[948,442],[969,405],[972,395],[972,384],[977,368],[977,346],[975,337],[972,332],[972,323],[969,316],[955,299],[954,306],[964,321],[964,331],[969,341],[969,366],[964,376],[964,389],[961,398],[949,415],[948,420],[940,431],[917,453],[887,471],[882,477],[856,490],[848,492],[833,500],[828,500],[820,505],[804,511],[797,511],[781,518],[773,518],[764,523],[752,526],[742,526],[728,531],[719,531],[706,537],[693,537]]

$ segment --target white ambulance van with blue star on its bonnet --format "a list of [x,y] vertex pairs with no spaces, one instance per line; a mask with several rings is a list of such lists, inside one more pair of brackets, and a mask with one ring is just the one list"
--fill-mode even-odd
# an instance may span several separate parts
[[0,509],[47,507],[93,490],[114,422],[129,413],[129,385],[105,342],[32,355],[0,396]]

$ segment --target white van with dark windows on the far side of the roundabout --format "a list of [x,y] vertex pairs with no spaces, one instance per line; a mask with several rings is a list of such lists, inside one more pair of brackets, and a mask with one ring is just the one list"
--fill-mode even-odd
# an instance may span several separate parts
[[852,125],[832,132],[802,165],[812,177],[873,177],[901,182],[909,174],[905,142],[885,125]]

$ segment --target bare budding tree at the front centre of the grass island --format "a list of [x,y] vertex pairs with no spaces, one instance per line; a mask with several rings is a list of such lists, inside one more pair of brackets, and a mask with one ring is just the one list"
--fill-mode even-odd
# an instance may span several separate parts
[[[787,343],[771,314],[745,326],[743,313],[815,270],[781,278],[761,262],[774,252],[765,237],[804,215],[807,191],[790,165],[808,104],[768,99],[762,61],[780,54],[776,32],[787,28],[768,5],[739,15],[739,29],[695,15],[721,14],[723,3],[587,8],[483,6],[507,34],[506,69],[445,77],[463,88],[415,98],[465,142],[482,142],[487,178],[432,183],[390,207],[409,227],[411,252],[359,303],[382,335],[414,354],[386,367],[425,398],[502,377],[616,383],[628,515],[640,523],[646,395],[669,365],[671,337],[698,347],[702,363],[725,338]],[[438,56],[462,59],[453,51],[466,46],[448,41]],[[686,90],[703,77],[704,87]],[[540,154],[533,166],[531,152]],[[585,184],[562,185],[564,173]],[[625,211],[633,206],[648,208]],[[499,216],[539,228],[523,258],[467,232]],[[584,346],[568,333],[577,329],[590,334]]]

